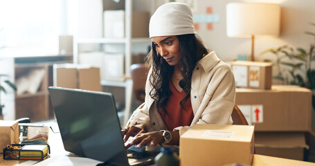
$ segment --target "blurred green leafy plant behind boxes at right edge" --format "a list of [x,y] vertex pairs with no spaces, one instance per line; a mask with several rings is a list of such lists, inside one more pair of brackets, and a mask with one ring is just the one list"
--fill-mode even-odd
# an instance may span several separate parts
[[[315,27],[314,23],[311,23]],[[273,77],[281,80],[283,84],[296,84],[306,87],[313,91],[313,108],[315,109],[315,68],[312,62],[315,62],[315,33],[305,32],[314,37],[314,42],[309,44],[309,49],[294,49],[285,45],[278,48],[264,50],[260,55],[272,53],[276,55],[276,62],[273,65],[278,69],[278,74]]]

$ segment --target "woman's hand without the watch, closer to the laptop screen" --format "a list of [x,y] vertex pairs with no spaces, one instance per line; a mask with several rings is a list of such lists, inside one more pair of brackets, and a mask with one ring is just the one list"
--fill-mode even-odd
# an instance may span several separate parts
[[121,129],[121,133],[123,134],[124,142],[127,142],[130,136],[134,137],[138,133],[145,133],[146,132],[146,127],[145,124],[135,124],[135,125],[130,125],[127,126],[123,129]]

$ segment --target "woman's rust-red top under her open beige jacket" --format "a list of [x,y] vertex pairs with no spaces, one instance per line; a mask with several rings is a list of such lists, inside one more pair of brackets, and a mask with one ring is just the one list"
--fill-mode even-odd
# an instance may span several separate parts
[[168,98],[168,102],[166,102],[165,109],[167,113],[164,111],[159,111],[161,117],[163,118],[166,126],[169,131],[172,131],[175,127],[180,126],[190,126],[192,119],[194,118],[194,113],[192,111],[190,97],[183,104],[186,110],[181,107],[181,100],[185,98],[186,93],[184,91],[177,91],[172,80],[169,82],[170,91],[172,92],[170,97]]

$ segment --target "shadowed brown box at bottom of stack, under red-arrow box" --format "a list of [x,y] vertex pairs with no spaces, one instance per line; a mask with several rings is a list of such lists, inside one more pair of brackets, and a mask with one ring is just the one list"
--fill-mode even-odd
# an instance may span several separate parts
[[255,132],[255,154],[303,160],[305,149],[303,132]]

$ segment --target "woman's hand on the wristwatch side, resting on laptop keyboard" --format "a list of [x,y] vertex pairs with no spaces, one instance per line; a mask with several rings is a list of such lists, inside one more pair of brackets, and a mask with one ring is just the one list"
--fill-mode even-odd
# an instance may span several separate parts
[[132,145],[136,145],[136,147],[140,148],[143,145],[158,145],[164,142],[163,133],[161,131],[152,131],[149,133],[138,133],[134,136],[134,139],[131,142],[128,142],[125,145],[126,149],[131,147]]

